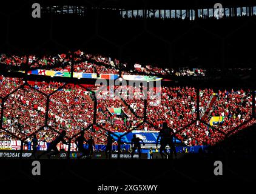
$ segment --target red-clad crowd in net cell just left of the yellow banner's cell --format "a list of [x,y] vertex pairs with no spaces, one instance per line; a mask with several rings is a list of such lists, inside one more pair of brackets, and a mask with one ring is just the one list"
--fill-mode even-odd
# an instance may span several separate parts
[[161,93],[156,90],[151,92],[153,92],[152,96],[158,93],[161,98],[148,99],[147,120],[149,122],[161,128],[166,121],[169,127],[178,130],[195,120],[197,96],[194,88],[161,87]]

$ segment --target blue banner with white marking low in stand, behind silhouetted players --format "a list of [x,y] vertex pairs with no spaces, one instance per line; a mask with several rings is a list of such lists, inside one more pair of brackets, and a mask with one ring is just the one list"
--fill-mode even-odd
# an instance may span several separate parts
[[[125,133],[116,132],[115,135],[121,136]],[[144,131],[133,131],[131,133],[128,133],[124,135],[121,138],[121,141],[128,144],[132,141],[133,135],[136,135],[137,138],[143,139],[145,144],[156,144],[157,143],[157,137],[159,135],[159,132],[144,132]],[[118,141],[118,138],[113,135],[113,138],[115,141]],[[177,144],[180,143],[180,140],[173,138],[173,141]],[[160,141],[159,141],[160,142]]]

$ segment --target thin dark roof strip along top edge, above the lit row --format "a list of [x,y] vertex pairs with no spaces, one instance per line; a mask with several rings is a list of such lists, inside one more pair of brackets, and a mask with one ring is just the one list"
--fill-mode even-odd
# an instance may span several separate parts
[[[16,7],[24,7],[29,4],[35,3],[31,0],[22,0],[16,2]],[[87,8],[116,8],[116,9],[188,9],[188,8],[203,8],[203,7],[214,7],[214,4],[220,3],[224,7],[244,7],[255,5],[253,0],[179,0],[179,1],[166,1],[166,0],[38,0],[41,6],[50,5],[77,5],[85,6]],[[29,6],[31,8],[31,6]],[[12,10],[13,2],[5,2],[5,5],[0,6],[0,12],[7,12]]]

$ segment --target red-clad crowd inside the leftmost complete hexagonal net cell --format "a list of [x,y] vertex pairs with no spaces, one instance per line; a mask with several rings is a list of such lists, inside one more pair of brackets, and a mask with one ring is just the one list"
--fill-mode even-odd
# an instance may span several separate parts
[[45,124],[46,97],[27,85],[4,101],[2,127],[19,138],[25,138]]

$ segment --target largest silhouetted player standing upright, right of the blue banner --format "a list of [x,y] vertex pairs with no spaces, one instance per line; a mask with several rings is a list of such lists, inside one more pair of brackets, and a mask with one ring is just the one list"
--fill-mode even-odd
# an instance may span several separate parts
[[167,126],[166,122],[164,122],[163,129],[160,130],[159,135],[157,137],[157,146],[158,146],[158,140],[161,137],[160,154],[162,158],[164,157],[167,158],[167,156],[169,156],[166,150],[167,145],[170,146],[170,158],[172,159],[173,152],[174,152],[175,158],[177,157],[177,152],[173,143],[173,136],[174,136],[173,130]]

